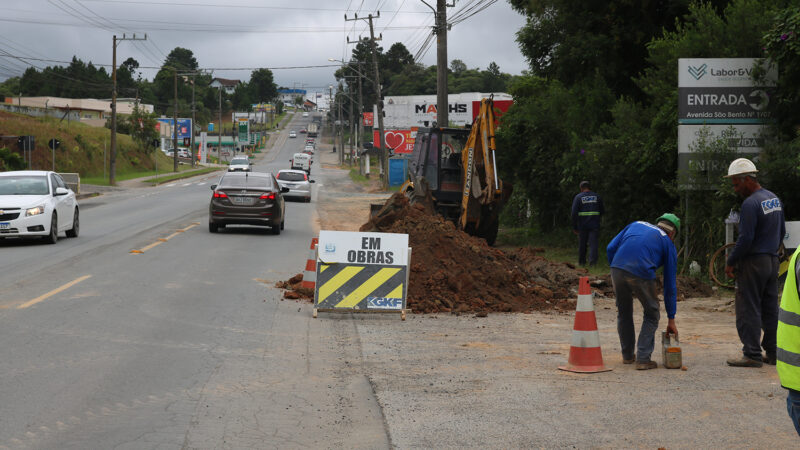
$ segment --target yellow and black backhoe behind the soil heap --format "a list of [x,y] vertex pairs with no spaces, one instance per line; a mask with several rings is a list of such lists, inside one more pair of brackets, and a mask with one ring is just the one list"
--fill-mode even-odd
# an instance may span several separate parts
[[400,188],[411,203],[426,202],[456,226],[486,239],[497,238],[500,210],[511,184],[497,176],[493,100],[481,101],[468,128],[420,128],[409,158],[409,180]]

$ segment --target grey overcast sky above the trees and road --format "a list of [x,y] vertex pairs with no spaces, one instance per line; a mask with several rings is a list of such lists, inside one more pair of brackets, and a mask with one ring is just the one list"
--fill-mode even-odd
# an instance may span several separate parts
[[[435,7],[436,0],[427,3]],[[142,67],[159,67],[184,47],[214,76],[247,81],[253,68],[266,67],[279,86],[327,92],[339,64],[328,58],[349,59],[348,38],[369,36],[366,21],[346,22],[345,14],[378,12],[375,33],[383,35],[384,51],[402,42],[421,54],[419,62],[436,63],[435,38],[424,45],[433,13],[421,0],[0,0],[0,11],[0,55],[24,60],[0,57],[0,80],[73,55],[110,67],[114,34],[147,33],[146,41],[118,44],[117,64],[133,57]],[[448,61],[461,59],[470,69],[494,61],[514,75],[527,68],[515,41],[525,19],[506,0],[456,0],[447,14],[448,22],[461,18],[448,33]],[[155,72],[142,70],[147,79]]]

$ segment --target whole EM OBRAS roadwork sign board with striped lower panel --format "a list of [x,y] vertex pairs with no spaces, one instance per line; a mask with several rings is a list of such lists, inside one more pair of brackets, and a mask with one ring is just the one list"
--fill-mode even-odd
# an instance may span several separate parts
[[317,247],[317,311],[398,312],[405,320],[407,234],[320,231]]

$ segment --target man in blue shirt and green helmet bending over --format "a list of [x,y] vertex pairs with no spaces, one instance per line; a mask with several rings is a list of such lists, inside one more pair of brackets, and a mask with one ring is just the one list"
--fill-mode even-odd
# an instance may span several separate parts
[[[671,213],[659,217],[655,225],[643,221],[633,222],[614,237],[606,248],[614,296],[617,298],[617,333],[622,347],[622,362],[635,362],[637,370],[658,367],[650,359],[650,355],[653,353],[655,334],[661,317],[656,279],[656,270],[659,267],[664,267],[667,333],[678,336],[675,325],[678,254],[672,241],[675,240],[680,226],[678,216]],[[633,326],[633,296],[639,299],[644,310],[638,343]]]

